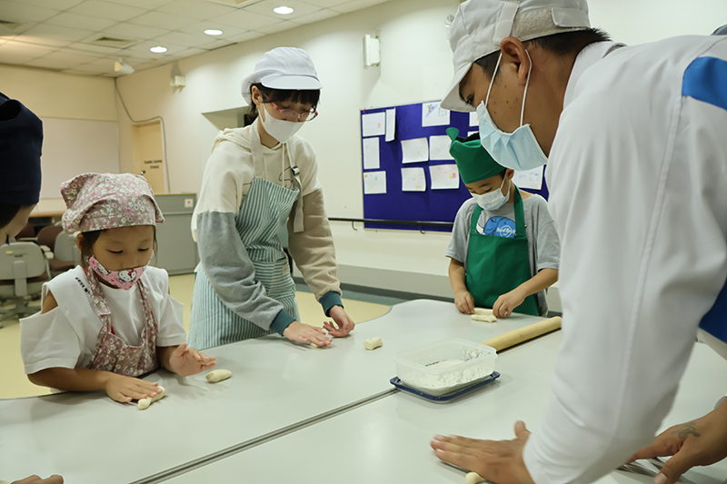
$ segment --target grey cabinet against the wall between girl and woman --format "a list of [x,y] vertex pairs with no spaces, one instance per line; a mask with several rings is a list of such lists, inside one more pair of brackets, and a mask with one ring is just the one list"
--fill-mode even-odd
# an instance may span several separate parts
[[156,226],[158,251],[154,265],[169,274],[194,272],[199,254],[192,238],[190,224],[197,203],[196,193],[154,195],[164,213],[164,223]]

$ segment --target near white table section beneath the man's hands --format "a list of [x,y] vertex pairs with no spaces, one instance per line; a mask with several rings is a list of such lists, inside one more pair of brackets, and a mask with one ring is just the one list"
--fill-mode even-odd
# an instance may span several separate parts
[[[500,380],[463,400],[437,404],[396,392],[167,482],[463,484],[463,470],[434,456],[433,435],[512,439],[516,420],[533,429],[548,399],[561,341],[562,333],[556,332],[504,352],[495,364]],[[724,390],[716,383],[726,376],[727,362],[697,344],[663,429],[712,410]],[[613,471],[598,482],[652,484],[654,476]],[[722,484],[727,462],[692,469],[684,477],[692,484]]]

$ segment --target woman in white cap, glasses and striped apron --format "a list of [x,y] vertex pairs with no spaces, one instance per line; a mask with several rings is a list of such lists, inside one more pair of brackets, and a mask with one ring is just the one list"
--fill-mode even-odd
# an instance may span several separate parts
[[[354,329],[341,302],[334,242],[313,147],[295,135],[317,116],[321,83],[302,49],[264,54],[243,81],[251,114],[245,128],[214,140],[192,232],[198,242],[189,341],[209,348],[278,332],[292,341],[331,343]],[[277,232],[334,323],[302,324],[295,284]],[[193,342],[194,341],[194,342]]]

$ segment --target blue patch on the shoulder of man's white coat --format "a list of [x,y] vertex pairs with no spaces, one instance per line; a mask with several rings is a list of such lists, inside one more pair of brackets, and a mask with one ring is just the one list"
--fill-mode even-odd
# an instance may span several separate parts
[[684,71],[682,95],[727,110],[727,61],[698,57]]

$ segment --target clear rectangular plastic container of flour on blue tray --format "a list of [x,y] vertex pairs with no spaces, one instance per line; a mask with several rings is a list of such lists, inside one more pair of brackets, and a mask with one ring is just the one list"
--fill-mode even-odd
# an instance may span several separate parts
[[490,346],[457,339],[400,351],[394,361],[403,383],[430,395],[444,395],[489,378],[496,358]]

